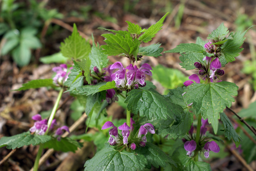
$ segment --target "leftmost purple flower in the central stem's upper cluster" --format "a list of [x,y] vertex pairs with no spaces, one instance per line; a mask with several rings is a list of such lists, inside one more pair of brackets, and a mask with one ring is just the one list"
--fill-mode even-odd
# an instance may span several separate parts
[[114,63],[110,69],[119,69],[115,74],[115,82],[117,86],[125,86],[125,68],[122,66],[122,63],[116,62]]

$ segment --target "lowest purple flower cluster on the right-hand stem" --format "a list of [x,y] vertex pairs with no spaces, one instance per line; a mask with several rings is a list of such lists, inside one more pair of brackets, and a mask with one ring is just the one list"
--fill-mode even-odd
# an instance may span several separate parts
[[195,151],[197,149],[197,151],[202,151],[204,152],[204,157],[208,158],[209,157],[209,151],[213,151],[215,153],[218,153],[220,151],[220,148],[218,146],[218,144],[215,141],[209,141],[206,139],[205,134],[207,131],[207,125],[209,125],[208,123],[208,119],[207,120],[201,120],[202,122],[202,126],[200,128],[200,140],[198,142],[198,144],[195,142],[195,137],[193,137],[193,131],[194,131],[194,127],[191,126],[191,129],[189,130],[189,137],[188,139],[183,139],[183,142],[185,142],[184,144],[184,148],[187,151],[187,155],[189,155],[189,157],[192,155],[192,152]]

